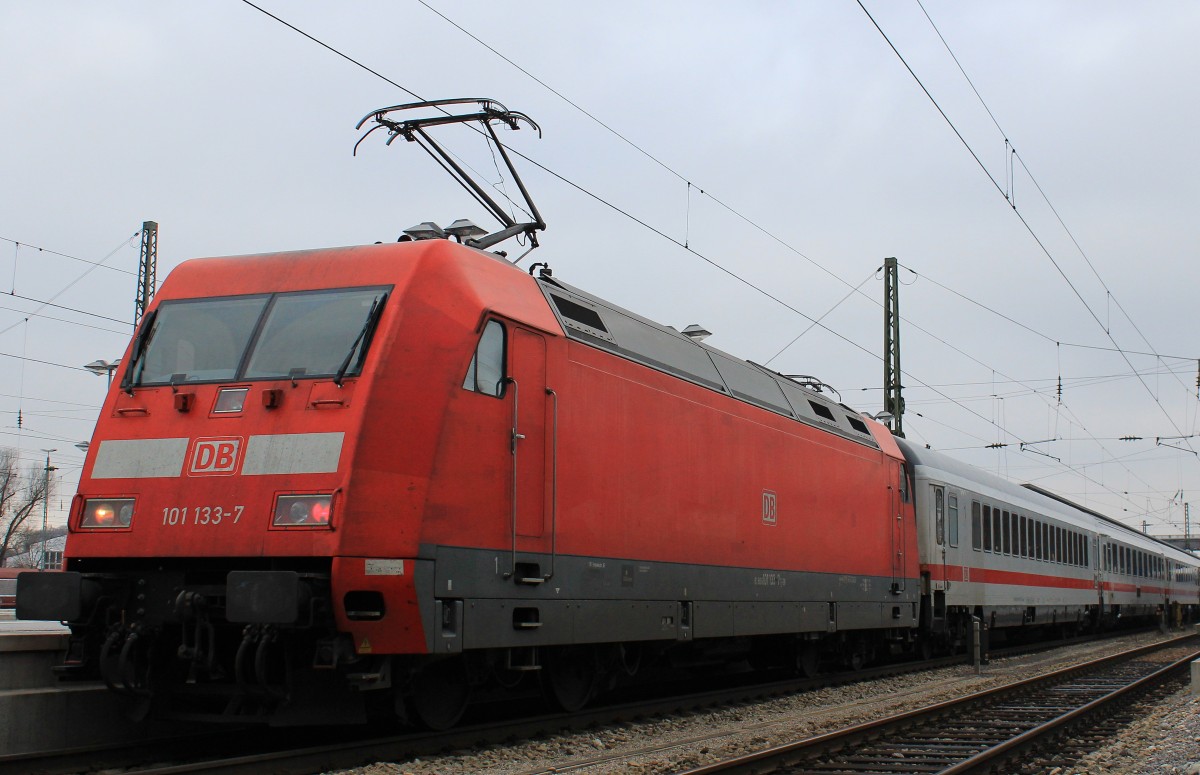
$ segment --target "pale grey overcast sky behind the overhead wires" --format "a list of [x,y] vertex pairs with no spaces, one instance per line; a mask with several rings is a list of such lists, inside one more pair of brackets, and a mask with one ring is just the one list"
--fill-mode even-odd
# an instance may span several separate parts
[[[1182,533],[1200,5],[864,4],[949,122],[854,1],[260,6],[422,98],[533,116],[541,139],[502,134],[553,172],[518,160],[548,223],[526,265],[870,413],[898,257],[911,440]],[[413,145],[352,157],[355,122],[409,94],[238,0],[4,2],[0,73],[0,444],[56,449],[52,521],[103,397],[79,367],[132,331],[143,221],[160,280],[494,226]],[[476,136],[439,137],[503,188]]]

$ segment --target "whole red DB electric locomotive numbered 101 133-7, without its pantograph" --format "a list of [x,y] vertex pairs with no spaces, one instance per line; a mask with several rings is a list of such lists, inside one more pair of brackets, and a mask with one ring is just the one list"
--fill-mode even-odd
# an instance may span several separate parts
[[917,623],[882,426],[487,252],[187,262],[122,362],[67,572],[18,606],[164,705],[355,717],[390,689],[444,726],[487,680],[574,708],[671,647],[811,666]]

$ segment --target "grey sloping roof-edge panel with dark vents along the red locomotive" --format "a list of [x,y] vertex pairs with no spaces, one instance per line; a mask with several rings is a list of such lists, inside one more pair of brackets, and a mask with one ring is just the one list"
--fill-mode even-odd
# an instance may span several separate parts
[[[538,278],[569,338],[822,431],[881,449],[850,407],[766,366],[740,360],[557,278]],[[884,450],[887,451],[887,450]]]

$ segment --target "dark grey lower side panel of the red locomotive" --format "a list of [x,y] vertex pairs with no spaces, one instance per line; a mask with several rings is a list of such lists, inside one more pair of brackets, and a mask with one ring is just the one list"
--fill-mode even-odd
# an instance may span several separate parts
[[[431,651],[914,629],[916,579],[427,547]],[[428,576],[433,578],[430,579]],[[541,581],[538,581],[541,579]],[[900,579],[901,582],[904,579]]]

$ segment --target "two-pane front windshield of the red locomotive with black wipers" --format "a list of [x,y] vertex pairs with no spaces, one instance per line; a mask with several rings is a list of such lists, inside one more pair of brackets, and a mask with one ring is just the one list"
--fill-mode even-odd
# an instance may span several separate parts
[[164,301],[134,385],[356,374],[386,290]]

